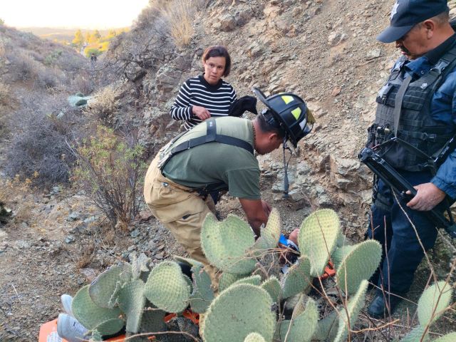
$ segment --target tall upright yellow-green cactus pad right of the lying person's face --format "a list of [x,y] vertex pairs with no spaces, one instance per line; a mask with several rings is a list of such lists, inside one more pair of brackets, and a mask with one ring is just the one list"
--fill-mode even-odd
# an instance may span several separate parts
[[321,276],[341,234],[339,218],[331,209],[310,214],[301,224],[298,242],[311,261],[311,275]]

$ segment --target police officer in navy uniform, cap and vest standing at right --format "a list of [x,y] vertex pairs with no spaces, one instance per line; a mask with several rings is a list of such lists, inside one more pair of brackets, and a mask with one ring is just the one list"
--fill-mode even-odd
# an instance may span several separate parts
[[[397,0],[390,19],[390,26],[377,39],[395,42],[403,56],[378,93],[370,145],[397,137],[426,155],[436,155],[456,133],[456,35],[449,24],[447,0]],[[420,241],[424,249],[435,244],[435,223],[424,212],[442,211],[448,200],[456,198],[456,152],[433,174],[419,153],[410,152],[413,148],[397,143],[384,146],[385,160],[418,194],[408,202],[395,197],[382,180],[374,187],[368,237],[383,244],[384,252],[371,279],[379,286],[368,307],[374,318],[392,313],[398,296],[410,289],[424,256]]]

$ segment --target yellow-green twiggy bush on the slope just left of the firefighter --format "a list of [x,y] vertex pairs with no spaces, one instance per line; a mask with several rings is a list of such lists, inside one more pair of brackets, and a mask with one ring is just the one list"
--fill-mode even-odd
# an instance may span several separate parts
[[138,213],[146,167],[141,160],[143,147],[133,134],[121,139],[99,125],[95,135],[71,151],[78,160],[73,182],[103,210],[113,227],[126,229]]

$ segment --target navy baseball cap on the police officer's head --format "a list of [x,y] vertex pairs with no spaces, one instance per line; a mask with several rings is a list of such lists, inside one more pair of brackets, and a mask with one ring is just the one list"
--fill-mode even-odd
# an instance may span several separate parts
[[416,24],[448,10],[447,0],[396,0],[391,9],[390,26],[377,36],[377,40],[393,43]]

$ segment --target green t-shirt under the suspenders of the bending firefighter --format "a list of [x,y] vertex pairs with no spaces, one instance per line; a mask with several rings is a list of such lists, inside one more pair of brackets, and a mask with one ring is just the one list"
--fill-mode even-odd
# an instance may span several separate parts
[[[217,118],[217,134],[229,135],[254,145],[252,121]],[[182,135],[172,147],[206,134],[206,123],[200,123]],[[229,195],[259,199],[259,166],[257,158],[242,147],[208,142],[173,156],[162,170],[163,175],[177,184],[199,188],[215,182],[228,185]]]

